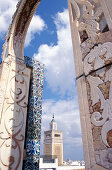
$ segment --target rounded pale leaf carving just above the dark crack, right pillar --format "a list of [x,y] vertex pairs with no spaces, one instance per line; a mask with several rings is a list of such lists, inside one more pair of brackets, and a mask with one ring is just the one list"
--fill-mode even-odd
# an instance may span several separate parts
[[98,44],[84,59],[84,73],[88,75],[106,64],[112,63],[112,43]]

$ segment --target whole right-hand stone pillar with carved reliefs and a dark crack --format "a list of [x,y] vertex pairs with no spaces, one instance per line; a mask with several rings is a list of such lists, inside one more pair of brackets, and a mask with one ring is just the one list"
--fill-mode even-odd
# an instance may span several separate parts
[[111,0],[101,0],[101,3],[99,0],[68,0],[68,5],[86,170],[110,170],[112,169]]

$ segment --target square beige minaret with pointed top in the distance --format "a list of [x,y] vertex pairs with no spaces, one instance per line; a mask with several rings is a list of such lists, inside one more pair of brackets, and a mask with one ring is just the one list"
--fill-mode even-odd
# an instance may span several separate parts
[[44,156],[58,158],[58,165],[63,164],[63,137],[62,131],[57,130],[57,123],[53,118],[50,122],[50,129],[44,132]]

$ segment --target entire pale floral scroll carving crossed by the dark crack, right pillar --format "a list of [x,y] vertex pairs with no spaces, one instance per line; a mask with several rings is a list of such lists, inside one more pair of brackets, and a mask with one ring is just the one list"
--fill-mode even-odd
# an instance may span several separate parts
[[[94,47],[91,52],[84,59],[84,72],[88,75],[91,71],[95,71],[103,67],[106,63],[111,62],[112,59],[112,43],[107,42],[99,44]],[[102,79],[104,78],[104,79]],[[91,122],[95,126],[102,126],[102,140],[103,143],[109,147],[107,142],[107,133],[112,129],[112,67],[108,70],[105,68],[96,72],[96,76],[87,76],[87,81],[90,85],[90,96],[92,106],[100,101],[100,110],[92,113]],[[105,99],[104,94],[99,85],[106,82],[110,83],[108,98]]]

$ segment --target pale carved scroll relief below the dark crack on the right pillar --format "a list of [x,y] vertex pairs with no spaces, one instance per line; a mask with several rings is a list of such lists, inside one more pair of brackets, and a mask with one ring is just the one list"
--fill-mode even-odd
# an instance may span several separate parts
[[[109,143],[107,141],[107,133],[112,130],[112,67],[110,67],[109,70],[103,69],[101,71],[102,75],[105,76],[105,79],[102,80],[100,76],[100,72],[97,71],[97,76],[91,76],[89,75],[87,77],[87,81],[90,85],[90,91],[91,91],[91,100],[92,100],[92,106],[97,104],[100,101],[100,108],[97,111],[94,111],[91,116],[91,122],[95,126],[102,126],[101,130],[101,136],[103,143],[109,146]],[[106,83],[109,83],[109,92],[108,95],[104,96],[104,85]],[[106,92],[105,92],[106,93]]]

